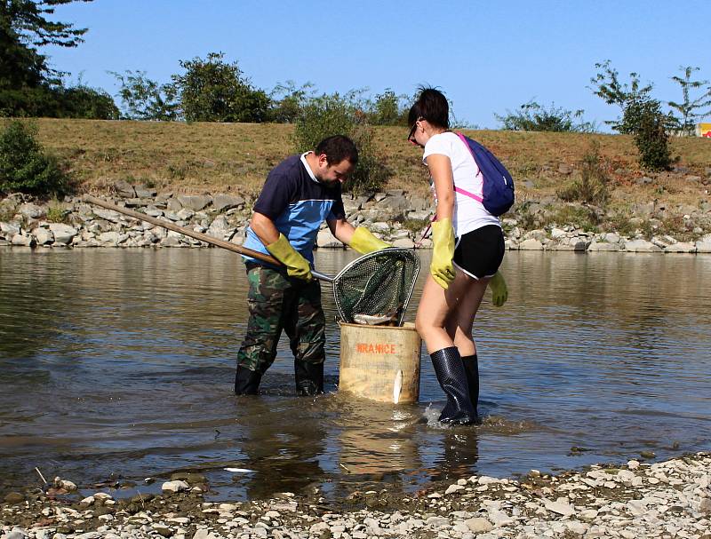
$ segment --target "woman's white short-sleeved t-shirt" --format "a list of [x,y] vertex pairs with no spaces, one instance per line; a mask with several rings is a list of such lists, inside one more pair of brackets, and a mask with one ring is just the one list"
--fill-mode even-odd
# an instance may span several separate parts
[[[435,154],[446,155],[450,158],[455,186],[464,189],[468,193],[482,196],[482,173],[479,171],[479,167],[476,166],[469,148],[464,145],[459,136],[451,131],[445,131],[431,137],[425,145],[422,161],[427,164],[427,156]],[[434,193],[434,185],[432,185],[432,190]],[[454,226],[454,235],[458,238],[482,226],[501,226],[499,218],[491,215],[483,207],[482,202],[456,191],[454,195],[454,215],[452,216],[451,224]]]

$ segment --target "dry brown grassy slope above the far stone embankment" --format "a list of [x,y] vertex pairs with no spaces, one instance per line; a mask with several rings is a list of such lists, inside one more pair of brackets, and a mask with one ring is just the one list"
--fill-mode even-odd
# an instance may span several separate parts
[[[254,194],[268,170],[293,150],[293,128],[284,124],[51,119],[36,123],[42,144],[68,160],[83,190],[102,189],[116,179],[126,179],[174,192]],[[678,175],[661,175],[650,185],[637,185],[635,178],[643,172],[636,164],[634,143],[626,136],[465,132],[489,147],[511,170],[518,181],[519,201],[554,195],[557,187],[574,177],[574,173],[559,174],[559,165],[574,167],[593,140],[611,162],[613,206],[655,199],[696,206],[701,200],[708,200],[705,184]],[[407,144],[406,136],[406,130],[399,127],[375,129],[376,147],[392,171],[387,188],[427,194],[421,151]],[[691,173],[707,178],[711,140],[673,139],[672,147]],[[524,179],[530,179],[532,186],[524,186]]]

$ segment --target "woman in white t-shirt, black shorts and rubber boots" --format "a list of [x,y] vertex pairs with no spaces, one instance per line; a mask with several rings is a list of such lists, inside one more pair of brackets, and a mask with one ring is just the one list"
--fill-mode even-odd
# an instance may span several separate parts
[[[504,236],[484,209],[482,175],[459,136],[449,131],[449,104],[441,91],[423,89],[410,109],[408,140],[424,148],[436,201],[434,249],[415,324],[427,345],[437,381],[447,395],[439,420],[478,419],[479,367],[472,326],[487,286],[494,305],[506,302],[499,273]],[[456,186],[456,190],[455,190]]]

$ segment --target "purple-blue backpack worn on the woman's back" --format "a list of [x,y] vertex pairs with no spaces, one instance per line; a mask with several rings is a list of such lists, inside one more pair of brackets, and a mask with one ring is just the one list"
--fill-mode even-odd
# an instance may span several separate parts
[[503,215],[514,204],[514,178],[511,178],[506,167],[488,149],[461,133],[457,133],[457,136],[467,145],[476,166],[482,172],[483,197],[469,193],[458,186],[454,186],[454,190],[482,202],[483,207],[491,215],[496,217]]

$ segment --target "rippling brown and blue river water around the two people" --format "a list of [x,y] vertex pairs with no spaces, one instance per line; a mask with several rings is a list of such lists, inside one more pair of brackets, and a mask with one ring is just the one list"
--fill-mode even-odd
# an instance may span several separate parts
[[[322,250],[316,266],[335,274],[352,258]],[[487,296],[475,322],[485,420],[443,428],[424,352],[418,404],[337,392],[325,288],[328,393],[293,395],[283,339],[265,394],[236,398],[247,317],[236,255],[0,250],[0,489],[36,483],[35,467],[142,492],[146,477],[190,469],[215,499],[336,497],[711,448],[711,257],[522,251],[503,271],[507,305]]]

